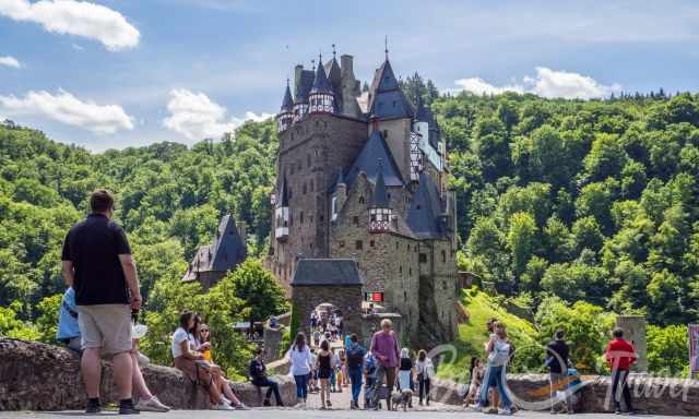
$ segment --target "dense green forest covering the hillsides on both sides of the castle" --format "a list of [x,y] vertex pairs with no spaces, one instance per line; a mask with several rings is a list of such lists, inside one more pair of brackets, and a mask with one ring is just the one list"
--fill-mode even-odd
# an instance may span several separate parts
[[[404,87],[431,104],[450,151],[460,268],[498,301],[530,310],[535,339],[550,337],[553,319],[604,319],[580,332],[581,344],[594,335],[596,345],[608,315],[641,314],[653,325],[651,357],[685,370],[679,325],[699,319],[699,96],[439,96],[418,75]],[[0,125],[0,334],[51,342],[64,289],[61,242],[98,187],[116,193],[117,220],[133,248],[154,331],[143,343],[149,355],[167,361],[161,340],[183,306],[215,307],[218,327],[247,315],[252,303],[241,282],[253,272],[273,283],[259,260],[205,296],[179,278],[227,212],[247,224],[249,253],[265,253],[275,152],[272,121],[192,147],[99,154]],[[271,298],[270,312],[285,308]],[[474,298],[464,297],[466,308]],[[224,340],[222,349],[249,350]],[[238,362],[227,367],[237,371]]]

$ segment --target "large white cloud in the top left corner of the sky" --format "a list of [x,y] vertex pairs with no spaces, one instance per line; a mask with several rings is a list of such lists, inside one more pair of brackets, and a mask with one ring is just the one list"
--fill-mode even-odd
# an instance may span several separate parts
[[0,0],[0,14],[38,23],[48,32],[96,39],[111,51],[135,47],[141,36],[121,13],[87,1]]

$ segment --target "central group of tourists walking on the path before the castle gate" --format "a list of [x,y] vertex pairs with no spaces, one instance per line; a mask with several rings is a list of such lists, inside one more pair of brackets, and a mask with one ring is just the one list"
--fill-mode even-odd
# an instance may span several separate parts
[[[345,335],[344,339],[329,332],[316,334],[322,324],[313,319],[318,318],[311,318],[317,348],[311,347],[300,332],[286,355],[296,382],[298,407],[306,407],[308,394],[317,391],[320,408],[330,408],[331,393],[341,393],[343,386],[351,388],[350,407],[353,410],[378,410],[382,402],[388,409],[399,405],[404,409],[412,408],[416,388],[419,405],[429,405],[435,367],[425,350],[419,350],[416,359],[412,359],[410,349],[400,348],[390,320],[381,321],[381,330],[374,334],[367,349],[356,334]],[[332,322],[331,318],[328,322]]]

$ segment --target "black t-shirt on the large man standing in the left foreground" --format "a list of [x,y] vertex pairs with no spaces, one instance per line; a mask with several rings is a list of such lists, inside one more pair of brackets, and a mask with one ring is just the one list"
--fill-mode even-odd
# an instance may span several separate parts
[[61,259],[73,262],[76,306],[129,303],[120,254],[131,254],[127,236],[104,215],[91,214],[68,231]]

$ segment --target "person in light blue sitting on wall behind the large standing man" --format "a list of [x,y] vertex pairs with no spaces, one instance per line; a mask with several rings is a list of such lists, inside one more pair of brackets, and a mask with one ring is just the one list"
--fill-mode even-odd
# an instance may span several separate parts
[[[63,294],[61,307],[59,309],[57,338],[69,349],[80,351],[81,336],[80,327],[78,326],[78,315],[75,308],[75,291],[72,287],[68,287]],[[143,411],[169,411],[169,406],[164,405],[151,393],[147,384],[145,384],[145,380],[143,380],[141,369],[139,368],[139,366],[143,363],[142,360],[147,360],[147,358],[142,356],[138,349],[139,340],[145,335],[147,327],[144,325],[139,326],[140,327],[131,328],[131,338],[133,344],[133,349],[131,350],[133,391],[139,395],[139,403],[135,405],[135,409]]]

